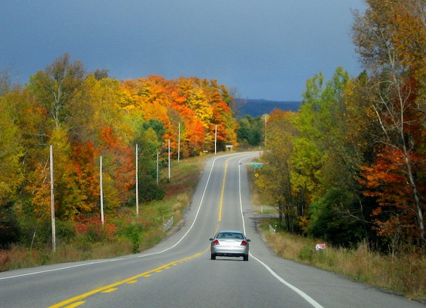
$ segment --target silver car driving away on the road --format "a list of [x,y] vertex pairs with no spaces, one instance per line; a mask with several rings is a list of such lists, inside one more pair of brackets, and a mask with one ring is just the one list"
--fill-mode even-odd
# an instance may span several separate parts
[[249,260],[249,242],[244,233],[235,230],[222,230],[211,241],[211,260],[216,257],[242,257]]

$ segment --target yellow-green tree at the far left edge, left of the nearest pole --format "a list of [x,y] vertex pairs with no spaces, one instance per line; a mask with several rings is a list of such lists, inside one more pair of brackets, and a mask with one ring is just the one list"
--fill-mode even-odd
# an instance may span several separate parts
[[33,195],[33,190],[27,194],[25,188],[33,179],[39,157],[43,156],[39,127],[43,122],[44,111],[37,107],[31,91],[17,85],[11,85],[4,96],[0,96],[0,108],[0,142],[3,142],[0,156],[3,170],[0,176],[3,182],[0,184],[0,216],[1,221],[8,226],[8,235],[3,234],[1,238],[7,240],[12,233],[15,238],[21,236],[19,221],[30,220],[30,217],[22,220],[20,217]]

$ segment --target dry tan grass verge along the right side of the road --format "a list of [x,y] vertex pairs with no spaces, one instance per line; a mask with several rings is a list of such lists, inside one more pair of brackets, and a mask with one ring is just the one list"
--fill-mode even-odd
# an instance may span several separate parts
[[380,255],[366,244],[360,244],[355,250],[327,247],[316,251],[314,239],[263,230],[268,244],[280,257],[346,275],[407,298],[426,300],[426,258],[423,255]]

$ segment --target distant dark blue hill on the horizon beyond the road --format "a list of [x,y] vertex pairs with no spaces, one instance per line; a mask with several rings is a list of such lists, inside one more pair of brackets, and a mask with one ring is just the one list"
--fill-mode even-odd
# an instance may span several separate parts
[[284,111],[299,111],[301,102],[278,102],[274,100],[251,100],[236,98],[234,100],[237,117],[243,117],[247,114],[253,117],[270,114],[274,109]]

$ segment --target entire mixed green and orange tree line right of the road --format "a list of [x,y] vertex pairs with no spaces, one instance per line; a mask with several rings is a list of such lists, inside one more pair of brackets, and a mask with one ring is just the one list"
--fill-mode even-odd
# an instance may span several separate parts
[[298,113],[273,111],[256,180],[280,224],[337,246],[426,252],[426,1],[366,0],[364,66],[306,82]]

